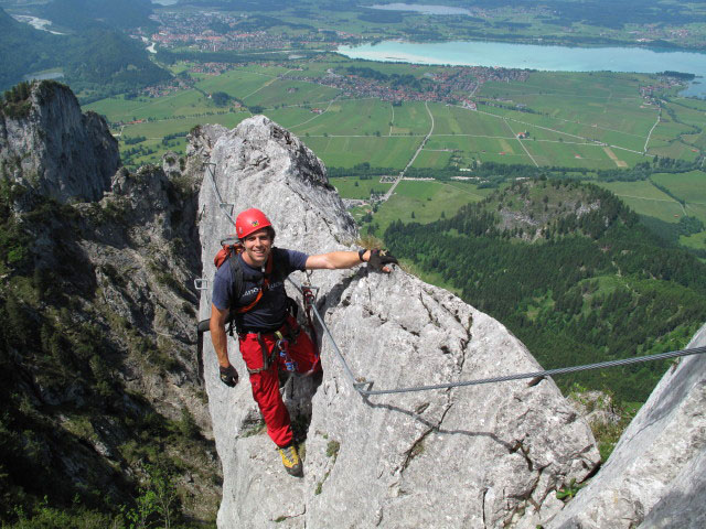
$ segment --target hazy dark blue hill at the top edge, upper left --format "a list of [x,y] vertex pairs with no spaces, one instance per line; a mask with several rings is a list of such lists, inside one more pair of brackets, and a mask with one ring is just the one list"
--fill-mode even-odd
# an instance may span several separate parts
[[54,0],[41,13],[53,23],[74,30],[96,24],[117,29],[153,25],[149,0]]

